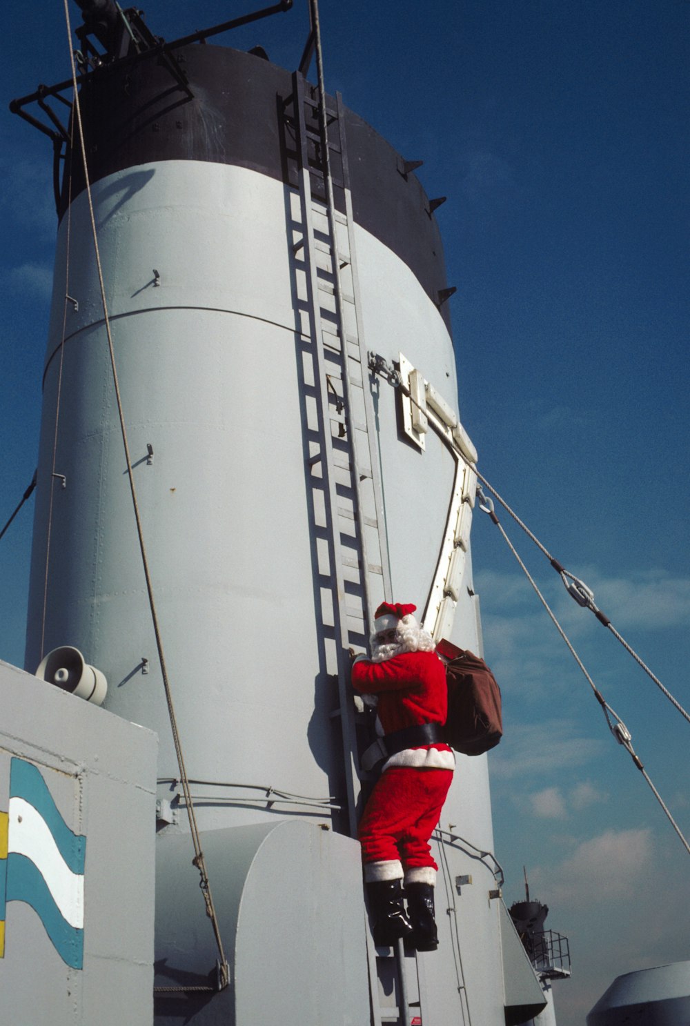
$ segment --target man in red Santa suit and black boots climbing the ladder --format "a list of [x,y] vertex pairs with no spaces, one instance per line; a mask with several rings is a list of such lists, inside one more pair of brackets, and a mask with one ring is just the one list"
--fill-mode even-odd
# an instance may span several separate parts
[[433,918],[438,867],[429,837],[451,786],[455,756],[439,740],[448,708],[446,669],[415,609],[383,602],[375,615],[372,658],[357,656],[352,664],[352,686],[378,700],[377,727],[387,756],[359,823],[359,841],[375,941],[402,938],[419,951],[432,951],[438,944]]

